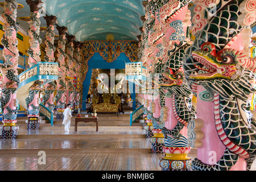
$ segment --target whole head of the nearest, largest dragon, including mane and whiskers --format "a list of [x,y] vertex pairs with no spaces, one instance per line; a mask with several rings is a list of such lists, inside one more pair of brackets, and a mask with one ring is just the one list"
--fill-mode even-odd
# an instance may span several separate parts
[[255,59],[240,51],[226,48],[216,52],[212,43],[206,42],[201,49],[192,52],[195,62],[189,80],[214,90],[224,97],[237,96],[247,99],[254,92],[253,72],[256,71]]

